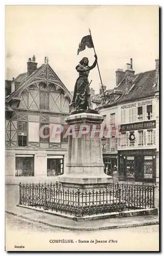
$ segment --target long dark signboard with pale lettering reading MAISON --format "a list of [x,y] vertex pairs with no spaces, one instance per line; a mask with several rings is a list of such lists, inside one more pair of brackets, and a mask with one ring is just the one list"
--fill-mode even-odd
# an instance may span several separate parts
[[145,121],[145,122],[137,122],[137,123],[127,123],[121,124],[120,132],[124,131],[132,131],[132,130],[140,130],[140,129],[153,129],[156,127],[156,121]]

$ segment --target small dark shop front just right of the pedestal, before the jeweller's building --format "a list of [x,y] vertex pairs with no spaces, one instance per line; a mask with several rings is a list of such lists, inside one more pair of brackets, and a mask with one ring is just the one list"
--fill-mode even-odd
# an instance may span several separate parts
[[113,176],[117,172],[117,155],[103,155],[104,173]]

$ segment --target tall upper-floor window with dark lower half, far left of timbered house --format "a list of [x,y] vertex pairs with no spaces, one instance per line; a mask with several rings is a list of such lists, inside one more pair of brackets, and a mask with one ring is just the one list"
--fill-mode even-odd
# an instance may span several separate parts
[[27,122],[18,121],[18,146],[27,145]]

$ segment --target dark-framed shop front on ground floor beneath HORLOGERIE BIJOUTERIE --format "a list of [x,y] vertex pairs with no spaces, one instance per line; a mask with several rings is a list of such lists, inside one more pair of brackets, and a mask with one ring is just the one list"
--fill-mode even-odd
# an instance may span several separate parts
[[155,150],[118,151],[118,174],[124,181],[155,183]]

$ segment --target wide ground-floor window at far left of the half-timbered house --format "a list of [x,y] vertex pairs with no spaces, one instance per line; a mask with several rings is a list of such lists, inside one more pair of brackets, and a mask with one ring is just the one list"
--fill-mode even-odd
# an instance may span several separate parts
[[15,176],[34,176],[34,156],[15,158]]

